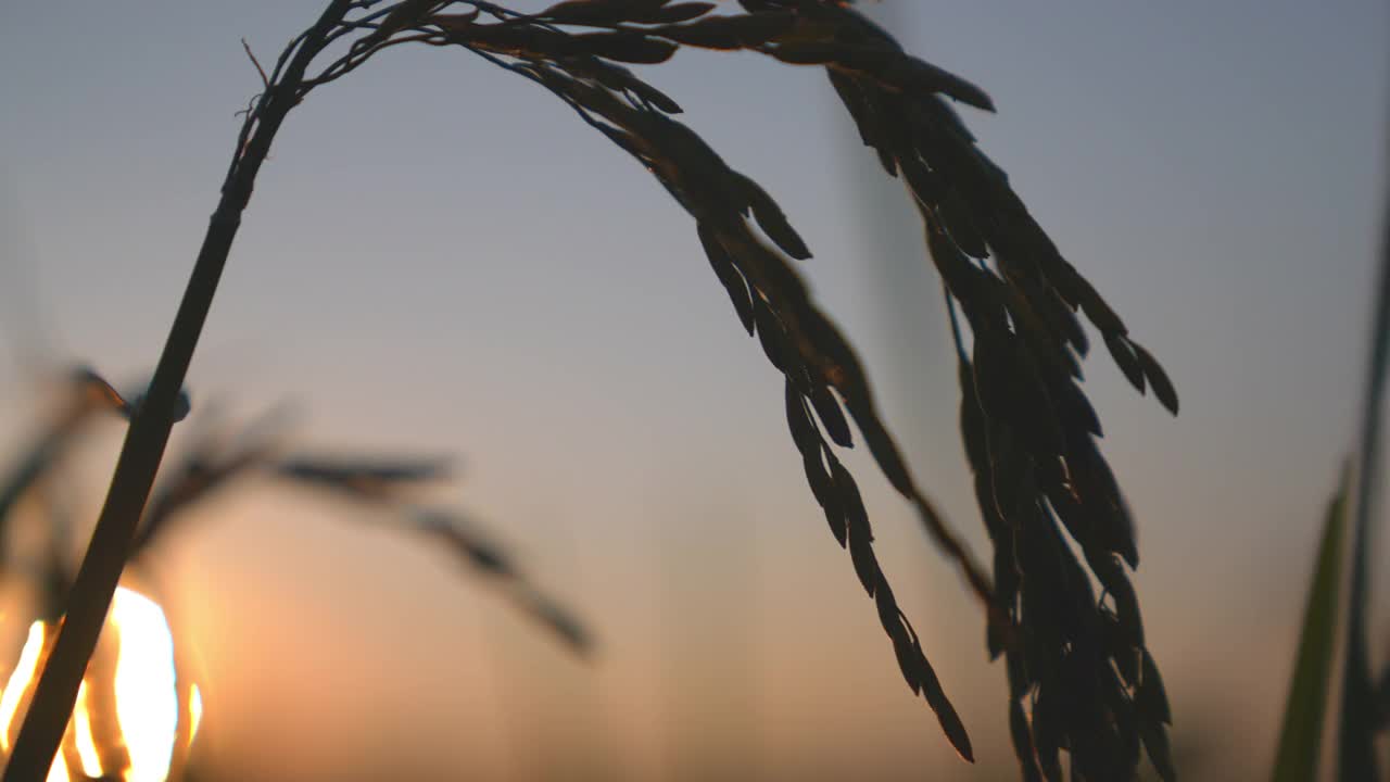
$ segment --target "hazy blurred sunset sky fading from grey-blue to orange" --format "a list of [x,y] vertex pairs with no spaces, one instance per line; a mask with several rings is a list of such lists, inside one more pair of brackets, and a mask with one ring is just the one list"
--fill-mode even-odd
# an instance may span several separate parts
[[[44,409],[38,366],[147,377],[260,86],[240,39],[268,64],[320,6],[6,8],[0,454]],[[983,149],[1177,384],[1173,420],[1104,352],[1087,363],[1180,763],[1264,778],[1354,442],[1390,7],[867,10],[992,95],[997,115],[966,110]],[[920,483],[986,551],[919,218],[823,74],[698,51],[641,74],[778,199]],[[316,452],[456,455],[430,500],[484,520],[596,636],[577,658],[439,551],[342,523],[370,509],[245,481],[152,562],[204,700],[203,779],[1016,775],[983,616],[910,508],[851,455],[976,767],[902,685],[689,218],[549,93],[464,51],[391,50],[291,115],[189,390],[195,416],[295,402]],[[113,416],[64,468],[79,526],[122,431]]]

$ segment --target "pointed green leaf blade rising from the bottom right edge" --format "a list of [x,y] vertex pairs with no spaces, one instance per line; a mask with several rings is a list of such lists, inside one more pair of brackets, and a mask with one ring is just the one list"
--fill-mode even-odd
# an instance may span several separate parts
[[[1337,491],[1327,504],[1322,541],[1308,582],[1298,655],[1289,685],[1279,749],[1275,754],[1275,782],[1311,782],[1318,778],[1322,757],[1323,718],[1332,686],[1337,648],[1337,612],[1344,577],[1343,540],[1347,533],[1347,491],[1350,469],[1343,468]],[[1147,671],[1145,671],[1147,673]]]

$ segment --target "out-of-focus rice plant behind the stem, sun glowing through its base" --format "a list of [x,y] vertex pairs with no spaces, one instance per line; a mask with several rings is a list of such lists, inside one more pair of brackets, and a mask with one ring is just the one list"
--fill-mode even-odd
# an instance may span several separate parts
[[[89,445],[100,416],[129,419],[140,399],[139,394],[122,395],[85,366],[38,383],[53,410],[33,416],[31,444],[0,473],[0,583],[6,590],[0,637],[10,641],[0,650],[0,753],[13,746],[71,586],[81,530],[70,506],[72,474],[64,463]],[[181,417],[188,413],[185,397]],[[203,501],[222,491],[254,490],[254,477],[366,509],[338,515],[375,520],[452,555],[464,575],[480,576],[570,651],[592,651],[585,625],[482,525],[453,508],[417,501],[421,487],[450,477],[448,459],[296,454],[288,449],[292,423],[286,408],[247,423],[228,422],[215,404],[192,416],[193,431],[182,451],[167,459],[146,508],[106,630],[111,637],[97,647],[50,781],[179,779],[190,758],[196,760],[192,753],[206,704],[179,641],[178,616],[165,623],[157,603],[165,593],[157,559],[165,540],[197,522]]]

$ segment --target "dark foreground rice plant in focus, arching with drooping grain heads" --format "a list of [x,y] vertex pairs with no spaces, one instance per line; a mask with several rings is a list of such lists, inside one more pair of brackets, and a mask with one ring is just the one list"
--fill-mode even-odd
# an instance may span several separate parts
[[[838,456],[856,438],[981,607],[988,654],[1005,661],[1023,778],[1059,779],[1065,751],[1073,779],[1130,779],[1144,750],[1165,779],[1176,776],[1166,737],[1172,715],[1127,575],[1138,565],[1134,523],[1095,445],[1099,419],[1080,388],[1091,344],[1083,317],[1136,390],[1152,390],[1176,413],[1172,381],[974,143],[955,104],[992,111],[983,89],[909,54],[847,0],[741,0],[731,13],[716,10],[714,3],[570,0],[527,14],[477,0],[332,0],[270,68],[256,63],[263,89],[246,107],[149,392],[118,405],[131,417],[129,433],[6,779],[42,775],[58,749],[111,596],[140,540],[142,511],[183,410],[189,360],[278,129],[316,89],[399,46],[461,50],[548,90],[651,171],[691,216],[738,321],[784,378],[784,412],[810,491],[874,601],[903,679],[965,760],[974,757],[966,726],[898,605],[858,484]],[[627,67],[663,63],[682,47],[742,50],[820,70],[884,171],[906,184],[951,309],[962,436],[992,543],[988,568],[913,477],[851,342],[802,281],[795,262],[810,257],[810,248],[762,185],[677,120],[674,97]],[[197,480],[215,483],[215,469],[200,469]],[[370,470],[345,479],[303,462],[282,466],[282,474],[368,495],[375,481],[391,483]],[[179,502],[160,497],[157,519]],[[438,533],[443,525],[427,516],[421,529]],[[475,565],[521,583],[503,561],[453,536],[443,533]],[[548,615],[537,604],[530,609]]]

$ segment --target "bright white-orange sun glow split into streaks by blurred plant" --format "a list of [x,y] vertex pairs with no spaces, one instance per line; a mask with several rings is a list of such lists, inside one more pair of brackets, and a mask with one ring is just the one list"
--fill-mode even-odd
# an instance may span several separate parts
[[[178,737],[179,696],[174,668],[174,636],[164,611],[153,600],[126,587],[118,587],[111,601],[111,628],[120,635],[113,693],[115,714],[104,715],[118,726],[129,767],[120,778],[126,782],[163,782],[170,772]],[[8,753],[17,731],[17,711],[31,694],[40,657],[51,646],[51,630],[43,622],[29,628],[19,661],[0,692],[0,750]],[[101,747],[93,729],[89,680],[78,690],[72,721],[64,736],[81,761],[85,776],[101,776]],[[192,743],[202,719],[203,699],[195,685],[189,692],[189,731]],[[110,749],[110,747],[107,747]],[[68,782],[68,757],[60,751],[49,771],[47,782]],[[114,769],[113,769],[114,771]]]

